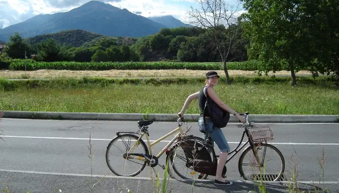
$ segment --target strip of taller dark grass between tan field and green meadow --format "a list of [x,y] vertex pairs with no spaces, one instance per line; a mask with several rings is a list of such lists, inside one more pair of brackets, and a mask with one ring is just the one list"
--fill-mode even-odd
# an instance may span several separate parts
[[[298,86],[321,86],[327,88],[334,88],[335,80],[329,77],[297,77]],[[225,85],[225,78],[219,78],[219,85]],[[246,77],[234,76],[230,77],[231,84],[290,84],[290,77]],[[0,90],[8,91],[17,88],[91,88],[91,87],[106,87],[112,84],[115,85],[182,85],[182,84],[200,84],[203,85],[205,78],[64,78],[64,79],[49,79],[49,80],[22,80],[13,81],[0,78]],[[339,87],[336,87],[339,88]]]

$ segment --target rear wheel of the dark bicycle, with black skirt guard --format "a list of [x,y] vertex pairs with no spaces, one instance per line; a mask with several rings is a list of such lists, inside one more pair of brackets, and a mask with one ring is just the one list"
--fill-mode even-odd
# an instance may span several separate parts
[[[194,171],[193,161],[212,161],[211,152],[200,137],[189,137],[174,145],[167,154],[168,173],[172,178],[197,179],[199,172]],[[174,173],[172,172],[174,171]],[[178,176],[176,176],[177,174]],[[204,174],[201,179],[208,175]]]

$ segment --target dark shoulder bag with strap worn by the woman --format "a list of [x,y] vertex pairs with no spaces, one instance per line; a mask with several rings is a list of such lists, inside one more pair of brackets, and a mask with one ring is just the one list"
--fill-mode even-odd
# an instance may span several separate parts
[[209,116],[212,119],[213,126],[223,128],[227,125],[230,120],[230,113],[228,111],[223,110],[219,105],[217,105],[208,95],[207,88],[206,88],[206,103],[205,108],[203,111],[203,122],[205,122],[205,111],[208,112]]

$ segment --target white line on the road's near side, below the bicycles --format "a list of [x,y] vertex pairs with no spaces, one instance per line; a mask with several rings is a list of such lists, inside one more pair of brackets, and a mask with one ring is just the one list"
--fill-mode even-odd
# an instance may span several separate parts
[[[17,172],[17,173],[34,173],[34,174],[50,174],[50,175],[68,175],[68,176],[82,176],[82,177],[91,177],[91,174],[81,174],[81,173],[58,173],[58,172],[43,172],[43,171],[24,171],[24,170],[13,170],[13,169],[0,169],[0,171],[4,171],[4,172]],[[127,179],[147,179],[150,180],[150,177],[138,177],[138,176],[134,176],[134,177],[128,177],[128,176],[117,176],[117,175],[92,175],[93,177],[108,177],[108,178],[127,178]],[[160,179],[163,179],[160,177]],[[170,178],[170,180],[177,180],[177,179],[173,179]],[[177,180],[177,181],[191,181],[191,180]],[[195,181],[210,181],[209,179],[195,179]],[[246,181],[246,180],[234,180],[236,182],[247,182],[247,183],[253,183],[251,181]],[[269,181],[266,183],[286,183],[287,181]],[[314,185],[319,184],[318,181],[298,181],[298,183],[310,183]],[[338,181],[321,181],[321,184],[339,184]]]

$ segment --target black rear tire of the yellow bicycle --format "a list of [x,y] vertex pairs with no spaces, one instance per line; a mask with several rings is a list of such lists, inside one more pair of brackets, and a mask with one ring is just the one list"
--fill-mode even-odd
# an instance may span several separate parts
[[[106,163],[107,163],[108,168],[109,168],[114,174],[116,174],[116,175],[119,175],[119,176],[136,176],[136,175],[138,175],[138,174],[145,168],[147,161],[144,161],[144,162],[141,164],[141,168],[140,168],[139,170],[137,170],[136,172],[131,173],[131,174],[122,174],[122,173],[118,172],[116,169],[114,169],[114,168],[112,167],[112,165],[110,164],[110,161],[109,161],[109,150],[111,149],[112,145],[114,145],[115,142],[118,141],[119,139],[122,140],[122,138],[124,138],[124,137],[132,138],[132,140],[133,140],[133,139],[137,140],[137,139],[139,138],[138,136],[133,135],[133,134],[123,134],[123,135],[116,136],[114,139],[112,139],[112,140],[109,142],[109,144],[107,145],[107,148],[106,148],[106,155],[105,155],[105,157],[106,157]],[[142,148],[144,149],[145,152],[134,152],[134,153],[144,153],[144,154],[149,154],[149,151],[148,151],[148,149],[147,149],[146,143],[145,143],[142,139],[140,139],[139,142],[140,142],[139,145],[141,144],[141,146],[142,146]],[[124,142],[124,143],[125,143],[125,142]],[[134,144],[135,144],[135,143],[130,143],[129,145],[131,145],[131,146],[129,146],[129,145],[126,146],[126,149],[130,149]],[[125,145],[126,145],[126,143],[125,143]],[[139,146],[139,145],[138,145],[138,146]],[[119,156],[116,155],[116,156],[119,157],[120,155],[119,155]],[[123,153],[122,153],[121,156],[123,157]],[[125,158],[123,158],[123,159],[126,160],[126,161],[129,160],[129,159],[125,159]],[[141,162],[142,162],[142,161],[141,161]],[[117,165],[117,167],[120,167],[120,168],[122,167],[122,165],[119,164],[119,163],[117,163],[117,164],[115,164],[115,165]]]

